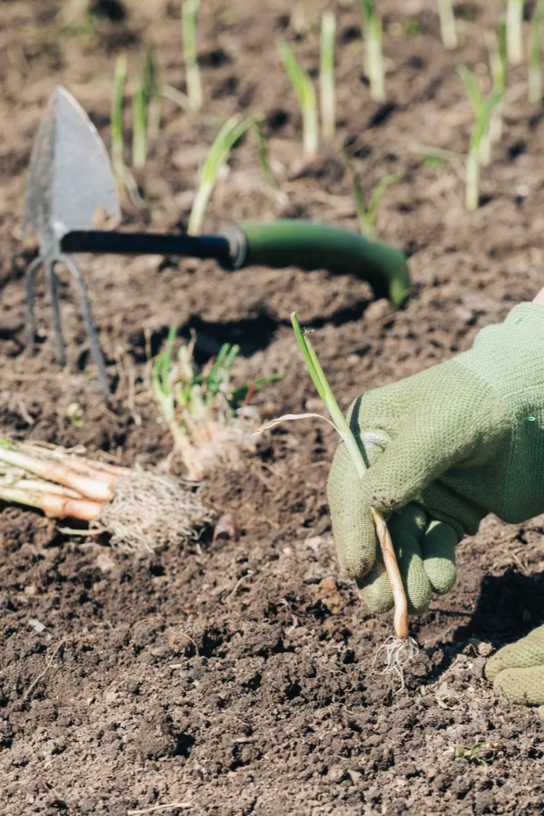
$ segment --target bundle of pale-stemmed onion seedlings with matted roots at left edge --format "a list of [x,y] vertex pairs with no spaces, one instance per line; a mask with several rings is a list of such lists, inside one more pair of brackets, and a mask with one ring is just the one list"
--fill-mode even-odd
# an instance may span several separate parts
[[210,514],[180,483],[38,442],[0,438],[0,500],[89,522],[112,547],[152,551],[196,536]]

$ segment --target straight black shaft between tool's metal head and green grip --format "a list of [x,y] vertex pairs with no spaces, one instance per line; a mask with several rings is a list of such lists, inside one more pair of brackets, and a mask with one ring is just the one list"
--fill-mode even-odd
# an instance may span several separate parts
[[215,235],[160,235],[152,232],[106,232],[85,229],[68,232],[61,239],[63,252],[97,255],[186,255],[212,257],[229,266],[230,244]]

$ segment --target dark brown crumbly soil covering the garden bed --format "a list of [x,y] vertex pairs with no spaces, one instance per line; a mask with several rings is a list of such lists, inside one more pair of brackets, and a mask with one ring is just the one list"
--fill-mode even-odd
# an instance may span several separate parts
[[[384,198],[378,228],[411,256],[409,304],[395,312],[371,302],[364,284],[323,272],[228,275],[211,263],[82,257],[116,393],[104,402],[98,390],[67,279],[69,366],[61,374],[54,362],[44,288],[39,352],[29,359],[23,276],[30,255],[17,225],[24,170],[53,84],[74,92],[106,142],[116,53],[128,49],[135,71],[144,44],[153,44],[165,81],[183,88],[178,2],[125,0],[124,19],[94,17],[80,30],[81,18],[63,18],[75,5],[2,4],[3,432],[157,464],[170,439],[146,395],[146,344],[156,353],[173,323],[186,336],[196,328],[209,354],[225,340],[238,342],[241,379],[282,374],[259,401],[272,403],[272,413],[300,412],[314,393],[288,324],[293,308],[316,329],[325,371],[347,406],[363,390],[467,348],[481,326],[544,284],[544,118],[527,102],[524,69],[510,75],[505,132],[483,171],[476,213],[462,209],[457,166],[432,168],[417,151],[421,143],[465,151],[471,113],[455,65],[462,60],[485,76],[491,4],[458,7],[465,43],[451,54],[431,0],[381,2],[389,73],[388,102],[378,106],[363,78],[355,2],[343,3],[339,138],[351,142],[365,190],[385,172],[405,171]],[[113,16],[119,10],[92,6]],[[233,153],[207,228],[279,215],[356,228],[338,151],[324,150],[309,168],[301,163],[300,117],[274,48],[275,36],[287,37],[316,75],[316,8],[300,3],[293,12],[287,0],[202,4],[205,110],[190,117],[165,102],[139,177],[144,208],[127,205],[127,225],[183,228],[219,122],[260,111],[288,204],[280,211],[267,193],[248,138]],[[296,34],[301,13],[308,28]],[[83,427],[67,417],[69,403],[81,405]],[[1,511],[2,816],[121,816],[167,805],[155,812],[544,811],[542,724],[531,710],[497,699],[481,676],[489,644],[544,619],[544,520],[522,527],[486,520],[461,544],[459,581],[413,622],[422,656],[407,689],[394,695],[373,669],[391,622],[369,615],[338,576],[325,500],[334,446],[325,426],[301,423],[261,440],[243,473],[216,473],[202,497],[238,516],[236,544],[204,538],[135,560],[64,536],[34,512]],[[33,619],[44,624],[42,634]]]

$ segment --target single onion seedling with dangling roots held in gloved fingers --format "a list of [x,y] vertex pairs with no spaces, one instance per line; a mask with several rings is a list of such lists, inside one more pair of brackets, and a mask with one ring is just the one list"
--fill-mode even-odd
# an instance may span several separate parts
[[[304,356],[306,367],[310,373],[314,385],[316,386],[317,393],[321,397],[323,403],[325,404],[325,408],[330,415],[330,420],[319,413],[288,413],[262,425],[257,432],[260,433],[267,431],[276,427],[276,425],[279,423],[286,422],[287,420],[306,419],[309,417],[325,419],[328,423],[333,425],[335,431],[345,442],[345,447],[352,457],[357,475],[359,478],[362,478],[364,476],[364,472],[366,471],[363,452],[361,452],[359,444],[357,443],[344,414],[340,410],[340,406],[335,400],[335,395],[332,392],[331,386],[327,382],[325,372],[317,359],[316,351],[308,340],[306,334],[303,333],[296,318],[295,312],[291,314],[291,323],[295,329],[296,340],[300,346],[302,355]],[[413,638],[409,637],[408,635],[408,603],[403,588],[403,579],[401,578],[401,573],[393,548],[393,542],[391,540],[389,530],[387,529],[386,520],[384,519],[383,514],[378,512],[378,510],[374,510],[374,508],[372,509],[372,515],[376,527],[376,536],[380,542],[382,555],[384,557],[385,569],[387,570],[387,575],[393,590],[393,625],[395,631],[395,636],[388,637],[384,644],[380,646],[376,657],[380,656],[380,654],[384,652],[385,667],[383,674],[396,675],[400,681],[401,687],[403,687],[404,668],[413,661],[415,656],[417,656],[419,647]]]

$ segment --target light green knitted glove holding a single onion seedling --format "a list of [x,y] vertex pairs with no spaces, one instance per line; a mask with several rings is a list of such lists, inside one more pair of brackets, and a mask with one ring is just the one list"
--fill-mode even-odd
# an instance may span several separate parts
[[375,612],[393,607],[371,507],[389,527],[412,614],[455,581],[455,547],[489,512],[544,511],[544,308],[523,303],[452,360],[358,397],[359,479],[345,444],[327,492],[340,563]]

